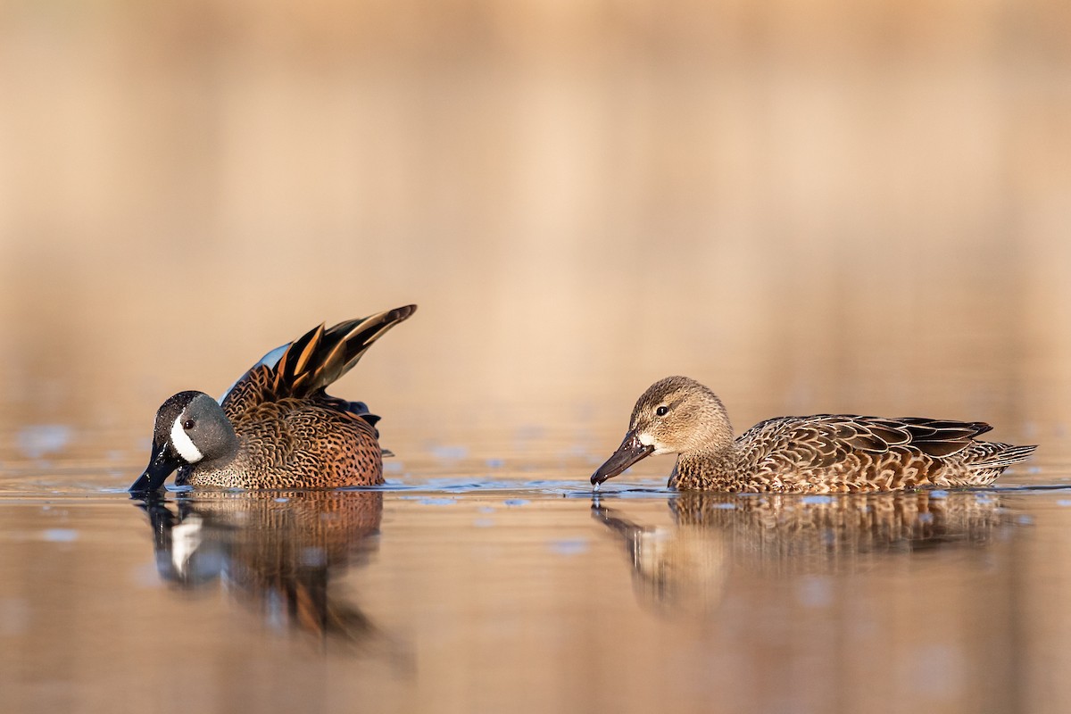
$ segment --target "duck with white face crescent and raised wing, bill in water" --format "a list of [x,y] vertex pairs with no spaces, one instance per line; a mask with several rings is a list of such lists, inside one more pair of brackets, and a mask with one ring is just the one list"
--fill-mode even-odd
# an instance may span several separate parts
[[180,392],[156,412],[152,457],[130,490],[178,485],[336,488],[383,481],[378,416],[325,388],[417,309],[407,305],[311,330],[272,350],[224,395]]

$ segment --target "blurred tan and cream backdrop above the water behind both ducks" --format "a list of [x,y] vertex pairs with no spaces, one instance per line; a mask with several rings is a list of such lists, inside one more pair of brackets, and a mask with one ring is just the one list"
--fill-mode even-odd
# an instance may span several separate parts
[[1056,0],[4,3],[0,428],[147,432],[416,302],[336,390],[414,438],[617,432],[682,373],[738,428],[1065,447],[1069,37]]

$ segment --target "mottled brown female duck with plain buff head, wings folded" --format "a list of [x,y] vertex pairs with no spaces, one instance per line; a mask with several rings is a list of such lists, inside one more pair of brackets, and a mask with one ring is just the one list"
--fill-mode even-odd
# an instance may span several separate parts
[[651,454],[677,454],[681,490],[844,493],[984,486],[1037,446],[976,439],[992,427],[908,416],[779,416],[733,438],[721,399],[666,377],[636,401],[629,432],[591,476],[595,486]]

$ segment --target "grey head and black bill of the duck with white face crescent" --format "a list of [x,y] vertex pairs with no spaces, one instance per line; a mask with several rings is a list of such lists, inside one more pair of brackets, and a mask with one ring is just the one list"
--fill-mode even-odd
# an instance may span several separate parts
[[218,402],[203,392],[179,392],[161,405],[152,456],[132,492],[155,491],[183,466],[232,457],[238,437]]

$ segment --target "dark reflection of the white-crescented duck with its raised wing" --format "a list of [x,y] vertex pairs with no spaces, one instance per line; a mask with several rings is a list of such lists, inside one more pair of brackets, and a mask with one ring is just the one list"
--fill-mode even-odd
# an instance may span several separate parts
[[353,643],[374,625],[329,588],[376,549],[382,493],[373,491],[198,491],[177,508],[156,496],[138,501],[154,533],[156,569],[183,588],[225,579],[272,624]]

